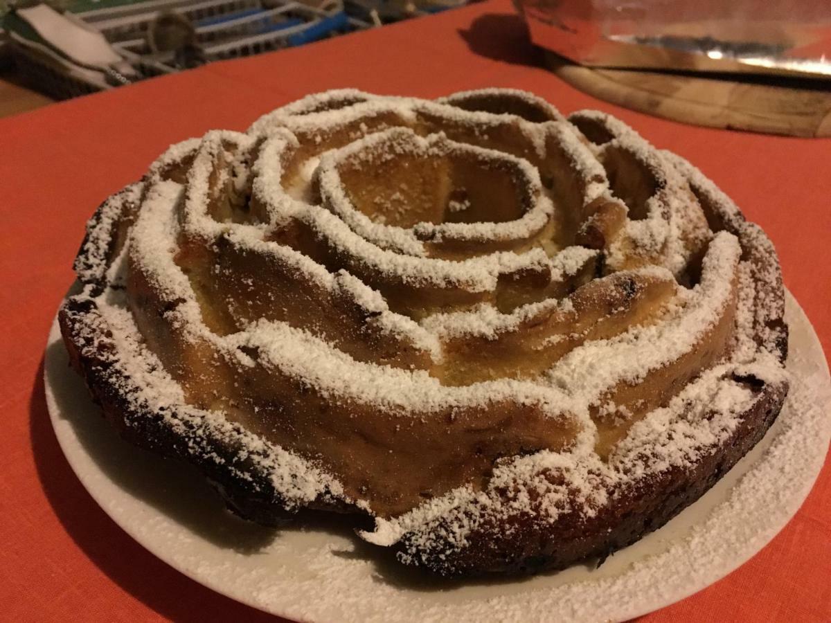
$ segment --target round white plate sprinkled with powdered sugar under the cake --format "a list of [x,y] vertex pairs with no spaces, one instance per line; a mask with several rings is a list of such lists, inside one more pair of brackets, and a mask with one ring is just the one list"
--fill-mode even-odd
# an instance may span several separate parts
[[187,465],[123,442],[67,365],[57,322],[47,403],[66,459],[101,508],[214,591],[302,621],[621,621],[700,591],[765,546],[807,496],[831,437],[822,347],[789,296],[789,399],[760,444],[704,497],[600,568],[519,581],[426,579],[373,556],[348,527],[244,522]]

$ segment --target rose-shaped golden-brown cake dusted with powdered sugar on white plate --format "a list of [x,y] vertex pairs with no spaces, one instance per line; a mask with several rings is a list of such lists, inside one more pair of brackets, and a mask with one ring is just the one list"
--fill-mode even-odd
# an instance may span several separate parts
[[774,249],[691,164],[519,91],[330,91],[175,145],[61,308],[131,442],[243,517],[368,519],[443,574],[602,557],[784,400]]

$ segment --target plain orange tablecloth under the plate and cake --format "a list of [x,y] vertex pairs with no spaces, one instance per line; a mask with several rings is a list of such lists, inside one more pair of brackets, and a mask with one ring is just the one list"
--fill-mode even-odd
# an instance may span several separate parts
[[[43,397],[42,351],[73,279],[83,224],[167,145],[243,130],[308,92],[356,86],[434,97],[535,91],[561,110],[608,110],[710,175],[779,249],[785,282],[831,348],[831,140],[708,130],[584,96],[535,65],[504,0],[0,120],[0,619],[258,621],[268,617],[167,567],[81,488]],[[552,613],[556,620],[556,613]],[[831,620],[831,468],[793,521],[738,571],[646,621]]]

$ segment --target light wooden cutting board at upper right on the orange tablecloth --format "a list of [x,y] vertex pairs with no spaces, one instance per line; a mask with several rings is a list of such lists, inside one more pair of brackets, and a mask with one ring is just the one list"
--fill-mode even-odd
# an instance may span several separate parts
[[[693,125],[804,137],[831,136],[831,81],[685,76],[657,71],[593,69],[546,52],[548,67],[568,84],[611,102]],[[775,80],[775,79],[774,79]]]

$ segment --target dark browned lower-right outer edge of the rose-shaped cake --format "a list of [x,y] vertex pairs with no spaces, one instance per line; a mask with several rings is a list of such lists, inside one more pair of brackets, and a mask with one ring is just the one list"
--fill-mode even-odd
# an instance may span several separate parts
[[[450,577],[522,576],[558,571],[594,558],[602,562],[662,527],[709,491],[765,436],[786,395],[785,385],[765,385],[753,407],[740,415],[740,424],[725,444],[711,447],[691,469],[673,466],[610,492],[616,500],[592,518],[571,510],[547,523],[518,514],[471,532],[461,549],[439,546],[425,551],[405,536],[394,546],[396,555],[405,564]],[[494,539],[506,530],[512,535],[509,542]]]

